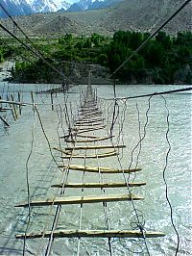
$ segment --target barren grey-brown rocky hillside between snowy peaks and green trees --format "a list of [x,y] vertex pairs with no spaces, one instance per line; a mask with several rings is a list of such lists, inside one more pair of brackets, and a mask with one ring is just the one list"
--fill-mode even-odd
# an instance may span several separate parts
[[[138,30],[153,32],[162,22],[174,13],[183,0],[125,0],[116,7],[86,12],[37,13],[14,17],[28,35],[42,36],[62,34],[76,35],[92,33],[112,35],[117,30]],[[165,28],[170,34],[192,30],[192,3]],[[10,19],[1,23],[12,31]],[[1,35],[5,35],[0,31]]]

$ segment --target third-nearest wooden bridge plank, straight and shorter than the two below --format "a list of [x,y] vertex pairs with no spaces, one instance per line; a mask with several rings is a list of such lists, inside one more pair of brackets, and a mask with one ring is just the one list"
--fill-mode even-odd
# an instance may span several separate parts
[[121,187],[141,187],[145,186],[145,182],[135,182],[135,183],[126,183],[126,182],[109,182],[109,183],[61,183],[61,184],[54,184],[52,188],[71,188],[71,189],[78,189],[78,188],[121,188]]

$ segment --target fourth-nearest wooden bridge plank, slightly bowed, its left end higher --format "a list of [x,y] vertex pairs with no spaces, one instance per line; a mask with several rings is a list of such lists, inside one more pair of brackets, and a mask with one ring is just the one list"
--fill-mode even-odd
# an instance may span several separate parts
[[88,171],[88,172],[100,172],[100,173],[131,173],[142,170],[142,168],[134,168],[134,169],[118,169],[118,168],[109,168],[109,167],[92,167],[92,166],[59,166],[64,169],[74,169],[80,171]]

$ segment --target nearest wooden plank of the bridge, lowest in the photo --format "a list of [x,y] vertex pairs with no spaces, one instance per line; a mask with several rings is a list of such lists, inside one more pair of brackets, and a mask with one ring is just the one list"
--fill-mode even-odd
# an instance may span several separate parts
[[[139,230],[55,230],[42,231],[38,233],[27,233],[15,235],[16,239],[36,239],[49,238],[53,234],[54,238],[143,238],[143,233]],[[155,231],[145,231],[146,238],[158,238],[166,236],[164,233]]]

